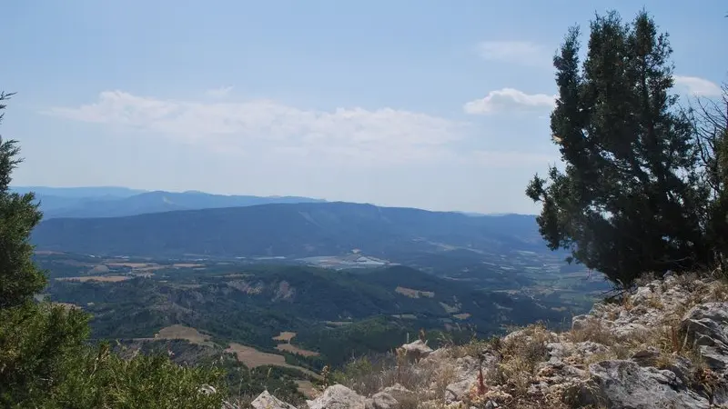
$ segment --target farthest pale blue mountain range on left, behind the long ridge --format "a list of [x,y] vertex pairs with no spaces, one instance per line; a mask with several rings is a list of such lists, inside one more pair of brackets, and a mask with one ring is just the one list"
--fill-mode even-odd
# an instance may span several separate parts
[[297,196],[211,195],[203,192],[147,192],[126,187],[20,186],[18,193],[34,192],[44,219],[56,217],[116,217],[174,210],[212,209],[274,203],[320,203]]

